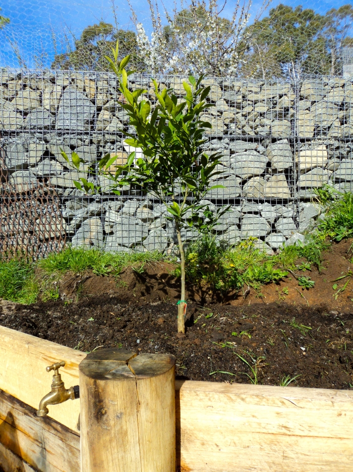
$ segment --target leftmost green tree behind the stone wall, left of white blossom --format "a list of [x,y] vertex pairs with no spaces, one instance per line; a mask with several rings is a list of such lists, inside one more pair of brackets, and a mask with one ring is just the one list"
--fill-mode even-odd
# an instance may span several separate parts
[[139,56],[136,34],[134,31],[118,29],[110,23],[101,21],[87,26],[81,37],[75,40],[75,49],[57,54],[51,64],[52,69],[65,70],[108,70],[104,56],[110,53],[111,47],[119,40],[124,55],[130,54],[131,65],[143,72],[145,64]]

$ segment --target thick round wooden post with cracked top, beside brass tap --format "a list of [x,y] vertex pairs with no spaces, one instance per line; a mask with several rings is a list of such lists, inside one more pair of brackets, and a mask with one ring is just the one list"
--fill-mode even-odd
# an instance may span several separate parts
[[82,472],[175,472],[175,358],[125,349],[81,362]]

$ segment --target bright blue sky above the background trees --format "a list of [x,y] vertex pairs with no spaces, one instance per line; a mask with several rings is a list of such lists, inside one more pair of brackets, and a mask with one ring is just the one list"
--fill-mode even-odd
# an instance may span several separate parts
[[[10,18],[10,25],[0,31],[2,49],[0,50],[0,67],[17,67],[18,60],[14,48],[18,48],[20,55],[25,59],[28,67],[35,67],[33,55],[40,51],[46,51],[47,57],[43,59],[48,66],[54,55],[52,36],[56,38],[57,49],[62,49],[65,40],[64,32],[71,31],[77,37],[89,24],[94,24],[101,19],[106,22],[114,22],[112,3],[115,3],[117,19],[122,27],[131,27],[130,8],[126,0],[2,0],[0,7],[2,14]],[[171,0],[163,2],[170,11],[173,8]],[[230,17],[234,0],[228,0],[223,11],[224,16]],[[305,8],[313,8],[320,14],[326,13],[331,8],[338,8],[349,3],[349,0],[315,0],[300,2],[299,0],[282,1],[274,0],[271,8],[279,3],[292,7],[303,5]],[[149,9],[147,0],[131,0],[139,20],[144,23],[147,31],[150,31]],[[261,2],[255,0],[251,11],[253,16],[261,6]],[[12,42],[11,46],[9,39]]]

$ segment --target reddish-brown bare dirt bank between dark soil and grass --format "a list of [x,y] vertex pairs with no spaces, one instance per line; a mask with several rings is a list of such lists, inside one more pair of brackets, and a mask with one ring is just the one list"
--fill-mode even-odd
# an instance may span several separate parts
[[[349,259],[353,256],[349,249],[352,240],[341,241],[333,244],[330,249],[323,252],[323,266],[320,271],[312,265],[312,270],[296,270],[294,274],[285,277],[282,281],[268,284],[261,291],[250,289],[250,292],[229,293],[222,296],[214,293],[209,288],[201,289],[198,286],[187,284],[187,298],[189,301],[200,305],[208,303],[230,304],[233,306],[252,305],[254,303],[272,303],[286,301],[293,305],[306,305],[317,307],[325,304],[333,310],[349,311],[352,307],[353,280],[351,280],[344,292],[333,297],[333,280],[353,269]],[[348,254],[349,251],[349,254]],[[298,261],[298,263],[300,260]],[[173,277],[174,266],[168,262],[155,262],[147,264],[143,273],[138,273],[131,267],[122,271],[120,277],[101,277],[93,273],[68,274],[60,285],[62,300],[74,300],[84,297],[100,296],[102,294],[114,295],[122,302],[129,301],[143,305],[145,303],[171,302],[177,303],[180,297],[180,281]],[[309,276],[315,280],[315,287],[307,290],[298,285],[296,276]],[[338,281],[336,291],[343,287],[347,279]],[[284,290],[283,290],[284,289]],[[288,293],[287,293],[288,292]],[[244,297],[244,293],[246,297]]]

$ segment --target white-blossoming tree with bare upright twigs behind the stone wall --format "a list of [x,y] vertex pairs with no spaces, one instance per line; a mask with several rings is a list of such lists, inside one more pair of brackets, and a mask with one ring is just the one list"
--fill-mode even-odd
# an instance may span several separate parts
[[[227,2],[220,6],[217,0],[190,0],[187,8],[164,9],[167,26],[163,26],[157,2],[148,0],[153,32],[146,35],[142,23],[133,11],[137,43],[148,70],[153,73],[205,74],[229,76],[239,72],[247,49],[251,1],[239,1],[231,19],[221,16]],[[254,21],[267,6],[264,1]]]

